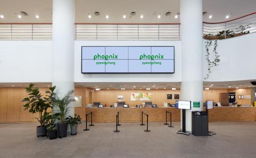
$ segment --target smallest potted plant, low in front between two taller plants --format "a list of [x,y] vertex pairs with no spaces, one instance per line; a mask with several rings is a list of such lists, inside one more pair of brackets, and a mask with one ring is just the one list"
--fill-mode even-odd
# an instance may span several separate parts
[[58,131],[55,128],[55,120],[57,119],[58,114],[48,115],[47,116],[47,134],[50,140],[56,139],[58,136]]

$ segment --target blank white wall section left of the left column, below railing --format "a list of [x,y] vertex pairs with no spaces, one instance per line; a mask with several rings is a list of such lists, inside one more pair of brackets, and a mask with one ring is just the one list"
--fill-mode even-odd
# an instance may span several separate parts
[[52,82],[52,41],[0,41],[0,83]]

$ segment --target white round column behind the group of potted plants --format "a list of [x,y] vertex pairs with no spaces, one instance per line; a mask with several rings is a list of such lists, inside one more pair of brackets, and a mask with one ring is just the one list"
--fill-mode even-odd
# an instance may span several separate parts
[[[56,93],[62,97],[74,90],[74,0],[53,0],[52,41],[53,80]],[[74,103],[70,104],[68,115],[74,115]]]

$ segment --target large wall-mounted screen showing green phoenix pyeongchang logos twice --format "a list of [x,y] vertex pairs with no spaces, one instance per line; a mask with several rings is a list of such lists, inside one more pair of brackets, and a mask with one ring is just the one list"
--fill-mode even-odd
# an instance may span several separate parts
[[81,72],[174,73],[174,46],[82,46]]

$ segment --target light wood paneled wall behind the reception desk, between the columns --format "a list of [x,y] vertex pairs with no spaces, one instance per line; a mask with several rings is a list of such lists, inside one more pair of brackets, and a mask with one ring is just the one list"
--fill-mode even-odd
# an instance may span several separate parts
[[[169,89],[153,89],[153,90],[100,90],[93,92],[93,102],[106,104],[106,107],[114,105],[115,102],[122,100],[129,104],[130,107],[135,107],[136,104],[141,104],[145,101],[131,101],[131,93],[151,93],[152,103],[156,103],[159,107],[163,107],[164,102],[175,103],[174,94],[180,94],[180,90]],[[166,94],[173,94],[172,100],[167,100]],[[122,95],[122,99],[117,96]]]

